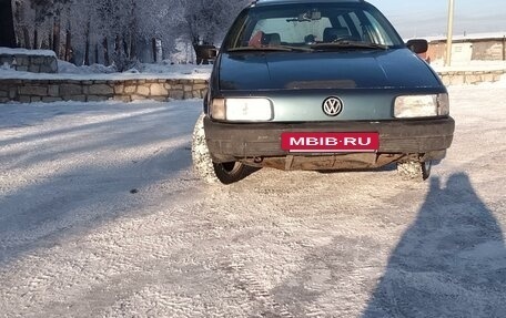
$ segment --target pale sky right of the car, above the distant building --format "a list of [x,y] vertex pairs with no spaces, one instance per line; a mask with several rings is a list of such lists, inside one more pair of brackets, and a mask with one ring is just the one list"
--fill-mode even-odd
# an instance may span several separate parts
[[[454,34],[506,33],[505,0],[454,0]],[[446,34],[448,0],[367,0],[403,38]]]

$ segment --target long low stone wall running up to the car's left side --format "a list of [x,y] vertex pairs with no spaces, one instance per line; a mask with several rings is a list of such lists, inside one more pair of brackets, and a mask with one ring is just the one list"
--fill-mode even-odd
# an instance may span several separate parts
[[205,80],[0,80],[0,103],[202,99]]

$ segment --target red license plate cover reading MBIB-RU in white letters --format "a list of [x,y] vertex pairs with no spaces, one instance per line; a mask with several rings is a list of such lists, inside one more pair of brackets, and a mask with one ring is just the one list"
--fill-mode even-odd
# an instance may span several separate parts
[[283,133],[281,147],[291,153],[377,152],[378,133]]

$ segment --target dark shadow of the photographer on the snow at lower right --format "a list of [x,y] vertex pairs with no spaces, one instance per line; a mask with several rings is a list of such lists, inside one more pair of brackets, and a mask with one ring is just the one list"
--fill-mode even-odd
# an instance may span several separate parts
[[506,248],[466,174],[438,178],[392,253],[363,318],[505,317]]

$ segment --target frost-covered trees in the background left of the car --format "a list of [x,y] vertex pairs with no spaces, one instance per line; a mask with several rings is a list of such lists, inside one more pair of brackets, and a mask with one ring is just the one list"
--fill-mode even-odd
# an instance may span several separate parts
[[121,70],[131,61],[158,62],[176,51],[178,43],[219,43],[246,2],[0,0],[0,10],[2,16],[12,12],[17,47],[50,49],[75,64],[114,63]]

